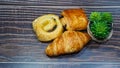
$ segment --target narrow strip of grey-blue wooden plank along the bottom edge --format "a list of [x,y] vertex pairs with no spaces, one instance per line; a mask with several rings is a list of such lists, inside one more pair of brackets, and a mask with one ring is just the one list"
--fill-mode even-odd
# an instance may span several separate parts
[[[47,65],[46,65],[47,64]],[[89,64],[89,63],[4,63],[0,64],[0,68],[119,68],[119,64]]]

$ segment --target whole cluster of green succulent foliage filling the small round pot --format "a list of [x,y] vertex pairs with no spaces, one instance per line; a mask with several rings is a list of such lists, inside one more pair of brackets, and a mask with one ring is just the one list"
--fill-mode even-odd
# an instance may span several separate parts
[[99,40],[109,36],[112,29],[112,15],[109,12],[92,12],[90,15],[90,30]]

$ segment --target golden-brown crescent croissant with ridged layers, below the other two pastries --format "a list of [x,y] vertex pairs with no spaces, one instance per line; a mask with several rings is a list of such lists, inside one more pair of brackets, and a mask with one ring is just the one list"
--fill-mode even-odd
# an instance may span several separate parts
[[65,31],[48,45],[45,52],[48,56],[59,56],[80,51],[90,40],[87,33]]

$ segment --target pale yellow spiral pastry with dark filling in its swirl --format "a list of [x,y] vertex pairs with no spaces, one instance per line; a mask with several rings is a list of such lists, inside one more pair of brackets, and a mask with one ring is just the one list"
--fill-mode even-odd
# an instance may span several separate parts
[[38,17],[33,21],[32,26],[40,41],[53,40],[63,32],[59,17],[54,14]]

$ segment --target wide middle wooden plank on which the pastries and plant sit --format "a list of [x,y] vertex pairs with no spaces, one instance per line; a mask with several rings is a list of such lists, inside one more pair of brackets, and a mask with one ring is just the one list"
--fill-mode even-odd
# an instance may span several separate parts
[[[12,4],[14,2],[17,3],[18,1],[9,1],[9,3]],[[44,2],[44,0],[41,2]],[[6,2],[2,1],[2,3]],[[120,62],[120,8],[87,8],[87,6],[71,7],[84,8],[88,17],[92,11],[111,12],[114,19],[114,33],[112,38],[103,44],[91,41],[77,54],[49,58],[44,53],[44,49],[49,43],[42,43],[37,40],[32,29],[32,21],[35,18],[48,13],[60,15],[62,10],[70,7],[2,5],[0,6],[0,61]]]

